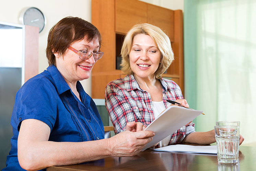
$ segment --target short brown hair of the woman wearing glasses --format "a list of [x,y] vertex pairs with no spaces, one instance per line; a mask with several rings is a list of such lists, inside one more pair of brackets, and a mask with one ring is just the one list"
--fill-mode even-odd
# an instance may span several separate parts
[[101,34],[90,22],[79,17],[65,17],[55,24],[49,31],[46,56],[49,65],[55,65],[55,55],[58,52],[64,55],[69,45],[87,37],[88,41],[98,38],[101,45]]

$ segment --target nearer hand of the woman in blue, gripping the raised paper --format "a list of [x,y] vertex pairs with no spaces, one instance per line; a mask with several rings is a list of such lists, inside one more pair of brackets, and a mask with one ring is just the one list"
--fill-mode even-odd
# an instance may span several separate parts
[[112,156],[124,157],[134,156],[151,140],[155,133],[153,131],[124,131],[108,139],[108,146]]

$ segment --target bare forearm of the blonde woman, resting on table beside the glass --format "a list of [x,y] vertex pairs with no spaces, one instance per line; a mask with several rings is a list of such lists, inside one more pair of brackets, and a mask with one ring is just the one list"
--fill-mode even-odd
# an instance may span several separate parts
[[208,132],[192,132],[188,134],[183,143],[211,144],[216,142],[214,130]]

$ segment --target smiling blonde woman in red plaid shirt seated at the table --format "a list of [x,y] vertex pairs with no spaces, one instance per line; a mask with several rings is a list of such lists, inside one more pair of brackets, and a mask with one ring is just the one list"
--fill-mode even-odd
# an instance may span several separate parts
[[[133,26],[124,39],[121,56],[121,70],[127,75],[109,82],[105,90],[105,105],[115,133],[124,131],[131,121],[147,127],[170,106],[166,100],[189,107],[179,86],[161,78],[174,57],[170,39],[159,27],[146,23]],[[160,146],[181,142],[213,143],[214,130],[195,132],[194,123],[190,123],[170,132]]]

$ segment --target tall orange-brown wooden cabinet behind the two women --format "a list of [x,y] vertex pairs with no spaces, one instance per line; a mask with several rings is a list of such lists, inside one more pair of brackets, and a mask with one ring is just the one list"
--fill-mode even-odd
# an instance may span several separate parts
[[175,60],[162,77],[174,80],[184,93],[182,11],[138,0],[92,0],[92,24],[102,35],[104,52],[92,70],[92,98],[104,98],[107,83],[125,76],[116,67],[116,56],[126,32],[139,23],[158,26],[170,37]]

